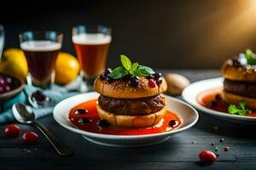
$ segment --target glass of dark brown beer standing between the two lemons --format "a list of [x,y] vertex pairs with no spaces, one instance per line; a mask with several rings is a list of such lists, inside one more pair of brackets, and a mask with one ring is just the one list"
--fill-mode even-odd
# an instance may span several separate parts
[[28,66],[27,83],[49,88],[54,77],[55,60],[61,50],[63,34],[58,31],[26,31],[19,35],[20,48]]

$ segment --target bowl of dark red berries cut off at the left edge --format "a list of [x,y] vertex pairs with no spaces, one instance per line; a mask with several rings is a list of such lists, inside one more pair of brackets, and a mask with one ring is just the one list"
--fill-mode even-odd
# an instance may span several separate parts
[[23,88],[24,82],[0,73],[0,101],[15,97]]

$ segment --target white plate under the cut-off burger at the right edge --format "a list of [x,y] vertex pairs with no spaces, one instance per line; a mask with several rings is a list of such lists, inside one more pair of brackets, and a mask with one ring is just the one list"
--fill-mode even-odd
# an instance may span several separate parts
[[207,79],[199,82],[194,82],[190,84],[187,88],[183,90],[183,99],[188,102],[190,105],[193,105],[196,109],[208,113],[212,116],[216,116],[220,119],[224,119],[230,122],[242,122],[242,123],[250,123],[255,124],[256,117],[251,116],[237,116],[227,114],[221,111],[213,111],[208,109],[197,102],[198,94],[205,92],[207,90],[215,89],[215,88],[222,88],[223,87],[223,77]]

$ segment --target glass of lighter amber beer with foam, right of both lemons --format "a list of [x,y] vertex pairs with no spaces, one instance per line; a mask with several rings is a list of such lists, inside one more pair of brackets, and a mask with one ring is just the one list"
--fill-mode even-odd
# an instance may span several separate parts
[[90,89],[95,78],[105,70],[111,29],[107,26],[74,26],[72,40],[81,67],[80,73],[87,89]]

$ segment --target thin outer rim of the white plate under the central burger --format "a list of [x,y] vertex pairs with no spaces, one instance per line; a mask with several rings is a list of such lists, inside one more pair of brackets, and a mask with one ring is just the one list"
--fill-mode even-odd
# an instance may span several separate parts
[[[90,92],[90,93],[85,93],[85,94],[97,94],[96,92]],[[84,94],[78,94],[75,95],[73,97],[67,98],[67,99],[74,99],[77,98],[78,96],[83,96]],[[97,94],[99,95],[99,94]],[[54,111],[53,111],[53,116],[56,122],[58,122],[62,127],[67,128],[68,130],[73,131],[74,133],[79,133],[81,135],[84,136],[89,136],[92,138],[101,138],[101,139],[148,139],[148,138],[153,138],[153,137],[160,137],[160,136],[168,136],[168,135],[172,135],[174,133],[179,133],[182,132],[190,127],[193,127],[195,125],[195,123],[198,121],[199,119],[199,114],[198,112],[195,110],[195,108],[193,108],[191,105],[183,102],[180,99],[175,99],[171,96],[166,96],[167,98],[173,99],[183,105],[188,106],[194,113],[195,113],[195,120],[193,122],[191,122],[189,125],[185,126],[185,127],[180,127],[177,129],[173,129],[171,131],[168,132],[164,132],[164,133],[154,133],[154,134],[142,134],[142,135],[113,135],[113,134],[102,134],[102,133],[91,133],[91,132],[87,132],[84,130],[81,130],[79,128],[76,127],[72,127],[71,122],[70,126],[67,125],[66,122],[62,122],[61,119],[57,116],[56,110],[58,107],[60,107],[61,103],[64,103],[67,101],[67,99],[63,99],[61,102],[59,102],[57,105],[55,105]],[[78,104],[76,104],[78,105]]]

